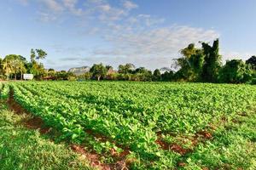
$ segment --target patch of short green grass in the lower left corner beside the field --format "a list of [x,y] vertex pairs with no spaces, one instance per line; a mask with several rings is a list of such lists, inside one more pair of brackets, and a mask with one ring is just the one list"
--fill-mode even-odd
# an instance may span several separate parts
[[37,130],[23,127],[20,122],[24,118],[25,115],[0,109],[1,170],[92,169],[88,161],[67,149],[65,144],[55,144]]

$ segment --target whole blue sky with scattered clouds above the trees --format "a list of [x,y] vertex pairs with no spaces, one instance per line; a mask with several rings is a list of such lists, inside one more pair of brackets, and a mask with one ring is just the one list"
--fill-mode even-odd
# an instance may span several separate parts
[[[189,42],[220,39],[223,59],[256,54],[255,0],[5,0],[0,56],[31,48],[46,68],[170,67]],[[199,45],[199,44],[198,44]]]

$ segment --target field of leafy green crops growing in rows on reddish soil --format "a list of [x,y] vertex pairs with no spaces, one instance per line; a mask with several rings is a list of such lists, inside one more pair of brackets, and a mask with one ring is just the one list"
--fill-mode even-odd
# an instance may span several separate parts
[[[170,82],[8,82],[26,111],[106,165],[255,169],[256,87]],[[13,95],[13,96],[9,96]]]

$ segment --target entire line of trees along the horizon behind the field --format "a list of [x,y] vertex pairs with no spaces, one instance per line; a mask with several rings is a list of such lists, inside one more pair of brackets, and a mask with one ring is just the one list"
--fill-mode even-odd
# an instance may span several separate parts
[[162,68],[150,71],[128,63],[119,65],[114,71],[111,65],[94,64],[90,71],[76,76],[68,71],[44,69],[39,62],[47,53],[42,49],[32,49],[30,61],[21,55],[9,54],[0,59],[1,79],[22,79],[23,73],[32,73],[37,80],[115,80],[115,81],[155,81],[155,82],[225,82],[256,83],[256,56],[245,62],[241,59],[227,60],[223,65],[219,54],[219,41],[212,45],[200,42],[201,48],[194,43],[180,50],[181,57],[174,59],[174,69]]

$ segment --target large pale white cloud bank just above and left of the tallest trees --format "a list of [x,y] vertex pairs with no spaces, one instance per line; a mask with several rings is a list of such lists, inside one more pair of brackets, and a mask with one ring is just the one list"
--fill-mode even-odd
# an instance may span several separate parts
[[114,47],[130,49],[124,54],[137,55],[168,55],[176,53],[191,42],[212,41],[218,37],[213,30],[203,30],[189,26],[170,26],[141,32],[121,34],[118,37],[106,37]]

